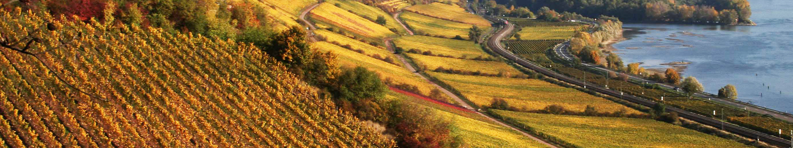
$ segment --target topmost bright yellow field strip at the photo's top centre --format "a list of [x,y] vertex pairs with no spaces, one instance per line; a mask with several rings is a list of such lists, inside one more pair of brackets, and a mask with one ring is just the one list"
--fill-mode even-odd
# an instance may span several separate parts
[[450,6],[440,2],[433,2],[429,5],[412,6],[405,10],[442,20],[473,24],[482,27],[490,26],[490,22],[485,20],[485,18],[479,17],[476,14],[467,13],[465,9],[457,5]]

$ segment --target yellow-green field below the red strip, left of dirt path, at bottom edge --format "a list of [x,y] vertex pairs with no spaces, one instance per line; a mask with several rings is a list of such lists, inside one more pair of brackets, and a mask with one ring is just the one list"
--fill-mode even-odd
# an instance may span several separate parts
[[427,102],[422,99],[412,98],[404,94],[389,91],[387,98],[402,99],[419,105],[430,107],[440,118],[451,120],[452,135],[462,137],[466,147],[492,147],[492,148],[523,148],[547,147],[539,142],[521,135],[517,131],[500,126],[475,113],[462,112],[446,106]]

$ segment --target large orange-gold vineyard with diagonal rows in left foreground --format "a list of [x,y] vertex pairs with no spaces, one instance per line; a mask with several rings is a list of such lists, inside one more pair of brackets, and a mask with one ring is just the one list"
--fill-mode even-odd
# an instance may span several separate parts
[[3,42],[35,40],[0,49],[10,147],[394,144],[254,46],[19,9],[0,19]]

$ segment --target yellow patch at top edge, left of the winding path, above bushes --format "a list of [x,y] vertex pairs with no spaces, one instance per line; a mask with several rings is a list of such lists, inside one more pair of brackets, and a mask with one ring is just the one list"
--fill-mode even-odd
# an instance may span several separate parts
[[[282,30],[289,26],[300,26],[301,24],[297,23],[296,20],[300,19],[299,16],[302,9],[316,3],[316,0],[262,0],[249,2],[267,12],[268,20],[273,21],[272,28]],[[288,4],[285,5],[284,3]]]

